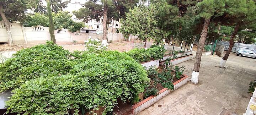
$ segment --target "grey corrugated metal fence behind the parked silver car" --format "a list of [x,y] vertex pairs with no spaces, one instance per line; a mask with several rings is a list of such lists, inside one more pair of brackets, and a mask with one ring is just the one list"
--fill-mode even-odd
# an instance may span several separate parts
[[[229,42],[218,41],[217,45],[225,46],[225,50],[228,50],[228,48],[229,48]],[[254,44],[242,44],[242,43],[237,43],[237,42],[235,42],[235,45],[233,46],[231,51],[236,52],[240,49],[247,49],[247,50],[251,50],[254,53],[256,53],[256,45],[254,45]]]

